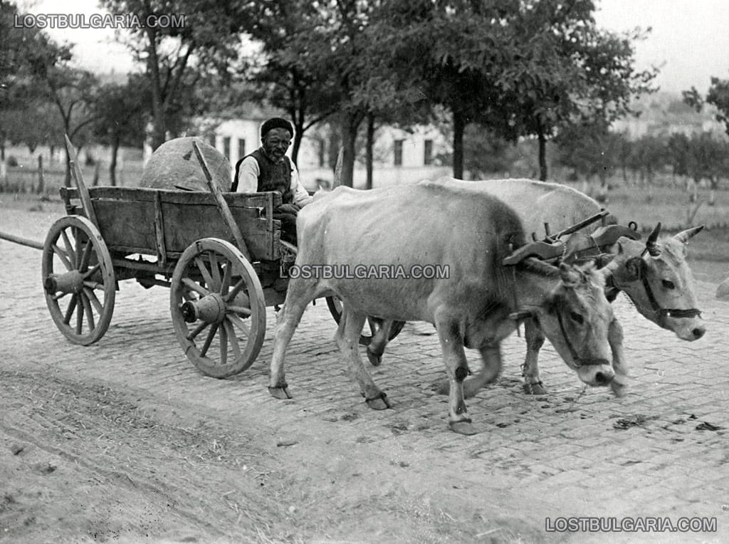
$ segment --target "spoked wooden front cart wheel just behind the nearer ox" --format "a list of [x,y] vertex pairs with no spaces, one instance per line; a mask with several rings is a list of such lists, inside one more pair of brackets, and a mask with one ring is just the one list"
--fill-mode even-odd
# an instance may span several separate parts
[[177,340],[200,372],[227,378],[249,368],[266,333],[258,276],[227,241],[203,238],[180,257],[170,310]]

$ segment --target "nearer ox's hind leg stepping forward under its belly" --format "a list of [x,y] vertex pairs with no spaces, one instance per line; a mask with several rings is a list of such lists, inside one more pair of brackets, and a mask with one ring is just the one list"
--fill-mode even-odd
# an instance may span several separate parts
[[335,341],[348,362],[349,375],[359,385],[359,391],[362,392],[367,406],[373,410],[386,410],[390,408],[387,395],[375,385],[372,376],[364,368],[362,359],[359,357],[359,335],[362,334],[362,327],[364,327],[366,319],[366,315],[348,310],[348,305],[345,304],[339,319]]

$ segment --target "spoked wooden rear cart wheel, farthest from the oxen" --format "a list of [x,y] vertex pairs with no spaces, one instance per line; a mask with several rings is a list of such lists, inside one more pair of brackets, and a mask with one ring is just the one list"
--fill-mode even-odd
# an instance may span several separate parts
[[69,215],[53,223],[43,244],[41,275],[50,316],[66,338],[88,346],[104,336],[116,282],[109,249],[92,222]]

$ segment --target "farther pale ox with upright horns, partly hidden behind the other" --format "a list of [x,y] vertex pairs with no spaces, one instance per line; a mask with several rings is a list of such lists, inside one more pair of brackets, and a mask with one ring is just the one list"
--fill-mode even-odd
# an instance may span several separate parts
[[[436,182],[449,187],[472,187],[488,195],[496,196],[507,203],[521,218],[527,233],[539,233],[545,223],[557,232],[568,228],[585,217],[601,210],[599,203],[571,187],[561,184],[536,182],[531,179],[494,179],[480,182],[464,182],[454,178],[440,178]],[[589,234],[598,228],[595,224],[580,232]],[[690,228],[658,240],[660,223],[647,238],[647,242],[620,238],[613,251],[617,254],[612,265],[614,273],[607,280],[608,298],[615,300],[617,292],[623,291],[634,303],[636,309],[647,319],[664,329],[673,331],[679,338],[694,341],[706,332],[701,313],[696,309],[695,281],[686,263],[686,249],[690,238],[698,234],[703,226]],[[577,235],[572,235],[577,236]],[[378,365],[389,335],[391,323],[383,323],[375,335],[367,356]],[[539,378],[539,349],[545,335],[534,320],[526,320],[526,359],[523,364],[525,389],[534,395],[545,394]],[[613,351],[613,365],[624,369],[627,365],[622,349],[623,332],[615,321],[611,325],[610,342]],[[488,376],[475,376],[466,381],[465,394],[475,395]],[[617,382],[613,389],[617,388]],[[443,391],[447,386],[443,387]],[[622,394],[622,393],[619,393]]]

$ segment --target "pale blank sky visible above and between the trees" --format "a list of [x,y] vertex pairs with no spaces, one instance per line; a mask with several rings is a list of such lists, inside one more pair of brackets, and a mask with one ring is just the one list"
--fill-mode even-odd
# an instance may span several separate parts
[[[26,12],[104,13],[97,0],[20,0]],[[598,26],[629,31],[652,28],[636,43],[636,68],[660,67],[656,84],[678,93],[695,86],[705,93],[712,76],[729,79],[729,0],[596,0]],[[126,73],[133,62],[125,47],[114,42],[111,29],[47,28],[58,41],[77,44],[79,66],[93,71]]]

